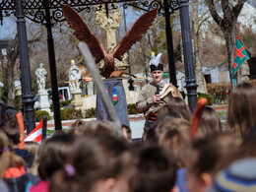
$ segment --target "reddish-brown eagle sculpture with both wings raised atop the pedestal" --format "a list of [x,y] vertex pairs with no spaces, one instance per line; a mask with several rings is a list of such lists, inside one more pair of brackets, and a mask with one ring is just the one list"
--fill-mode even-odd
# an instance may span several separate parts
[[141,16],[133,25],[131,30],[117,43],[111,52],[107,52],[96,35],[88,28],[83,19],[68,5],[63,4],[62,10],[69,27],[74,30],[74,34],[80,41],[85,41],[93,56],[98,63],[101,59],[104,60],[104,66],[101,69],[101,74],[105,78],[109,78],[111,73],[116,70],[114,58],[122,61],[122,56],[131,46],[142,38],[142,33],[146,33],[154,22],[158,10],[154,9]]

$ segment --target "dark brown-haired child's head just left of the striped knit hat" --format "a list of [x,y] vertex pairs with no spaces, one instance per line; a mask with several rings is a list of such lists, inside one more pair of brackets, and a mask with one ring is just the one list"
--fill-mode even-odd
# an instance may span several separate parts
[[237,158],[239,141],[228,133],[216,133],[194,141],[187,170],[190,192],[209,189],[215,174]]

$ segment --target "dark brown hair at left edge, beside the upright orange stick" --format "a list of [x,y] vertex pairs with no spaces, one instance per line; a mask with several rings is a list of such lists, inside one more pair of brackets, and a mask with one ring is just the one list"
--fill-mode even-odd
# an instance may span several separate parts
[[1,129],[6,133],[11,145],[18,145],[20,143],[20,126],[16,116],[10,116],[2,125]]

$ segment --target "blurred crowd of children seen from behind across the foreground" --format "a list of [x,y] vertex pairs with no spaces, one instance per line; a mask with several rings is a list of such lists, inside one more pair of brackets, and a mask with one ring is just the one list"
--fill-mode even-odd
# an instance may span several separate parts
[[193,114],[173,98],[141,144],[126,125],[117,137],[112,122],[77,120],[25,149],[13,116],[0,127],[0,191],[256,191],[255,114],[256,88],[241,84],[228,98],[226,125],[207,106],[193,137]]

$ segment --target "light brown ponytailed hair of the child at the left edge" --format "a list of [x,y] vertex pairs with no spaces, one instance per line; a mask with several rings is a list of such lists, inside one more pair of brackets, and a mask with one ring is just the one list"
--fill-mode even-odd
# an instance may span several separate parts
[[24,166],[25,161],[11,152],[10,143],[7,135],[0,130],[0,179],[3,178],[4,172],[13,166]]

